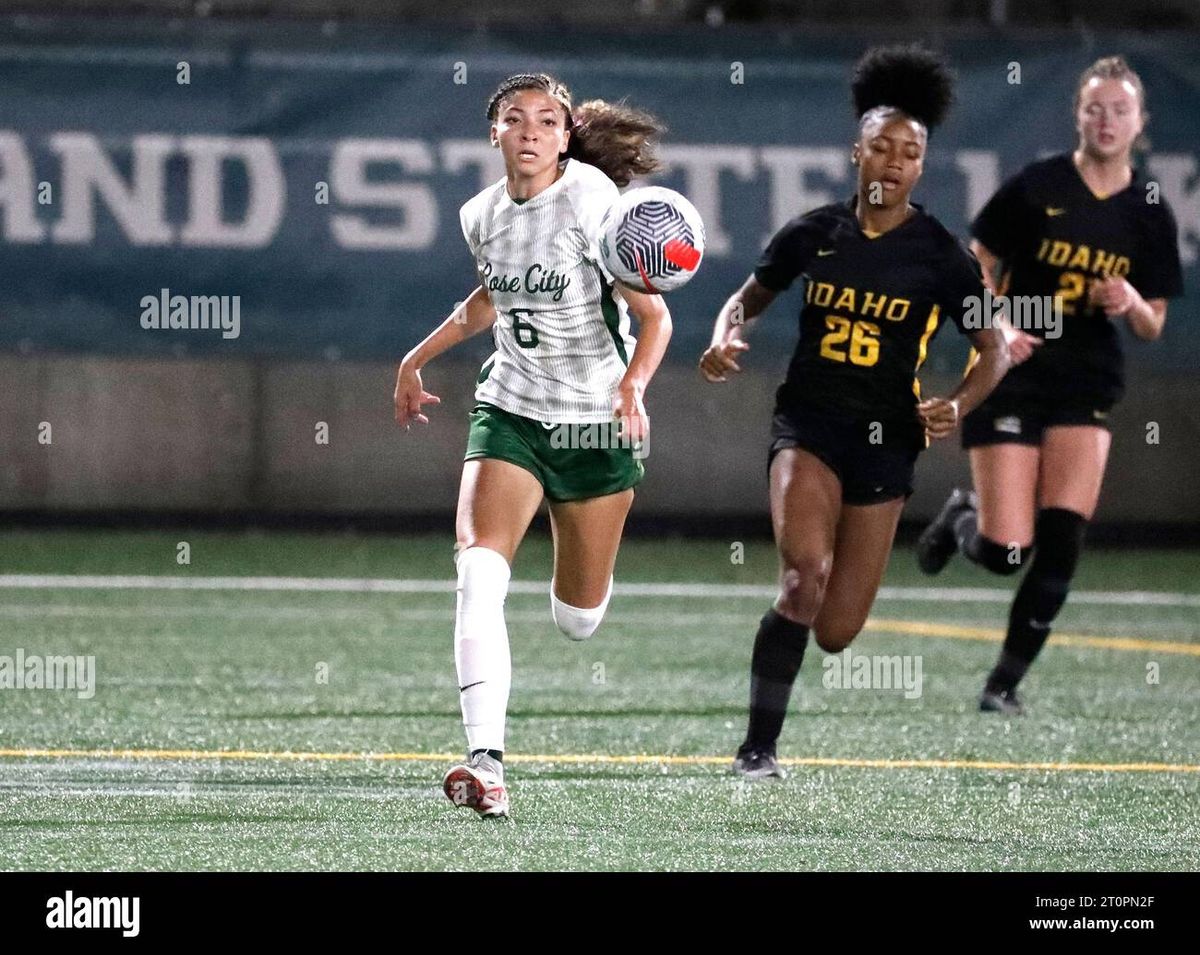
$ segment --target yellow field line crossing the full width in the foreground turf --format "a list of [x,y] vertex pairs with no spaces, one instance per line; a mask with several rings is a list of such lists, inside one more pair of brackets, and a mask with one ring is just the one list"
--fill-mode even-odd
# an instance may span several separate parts
[[[312,762],[452,763],[454,752],[260,752],[254,750],[0,750],[0,758],[90,758],[90,759],[290,759]],[[728,756],[653,756],[647,753],[508,753],[509,763],[635,764],[635,765],[727,765]],[[991,769],[1054,773],[1200,773],[1188,763],[1014,763],[992,759],[853,759],[839,757],[782,757],[784,765],[857,767],[862,769]]]

